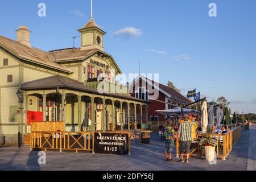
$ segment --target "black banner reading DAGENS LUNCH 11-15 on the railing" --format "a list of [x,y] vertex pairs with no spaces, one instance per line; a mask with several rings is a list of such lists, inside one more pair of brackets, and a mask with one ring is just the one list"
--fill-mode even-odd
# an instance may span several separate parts
[[94,152],[96,154],[129,154],[129,134],[94,133]]

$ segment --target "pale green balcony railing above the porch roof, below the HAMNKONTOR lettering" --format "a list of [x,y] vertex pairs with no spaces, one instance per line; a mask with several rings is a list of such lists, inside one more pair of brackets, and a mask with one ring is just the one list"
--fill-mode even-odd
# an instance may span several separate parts
[[113,84],[107,81],[85,81],[85,86],[98,90],[99,93],[114,93],[129,96],[129,86]]

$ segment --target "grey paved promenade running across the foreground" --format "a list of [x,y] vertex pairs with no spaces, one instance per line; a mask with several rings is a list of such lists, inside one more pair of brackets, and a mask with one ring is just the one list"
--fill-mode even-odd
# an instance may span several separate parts
[[[226,161],[217,160],[217,165],[210,165],[203,158],[191,158],[189,164],[164,162],[164,143],[154,134],[150,145],[137,144],[132,141],[131,155],[101,155],[73,152],[47,152],[46,165],[38,164],[38,151],[30,151],[28,146],[1,147],[0,170],[191,170],[191,171],[225,171],[255,170],[256,125],[250,130],[242,130],[242,137],[233,147]],[[174,155],[175,157],[175,155]]]

